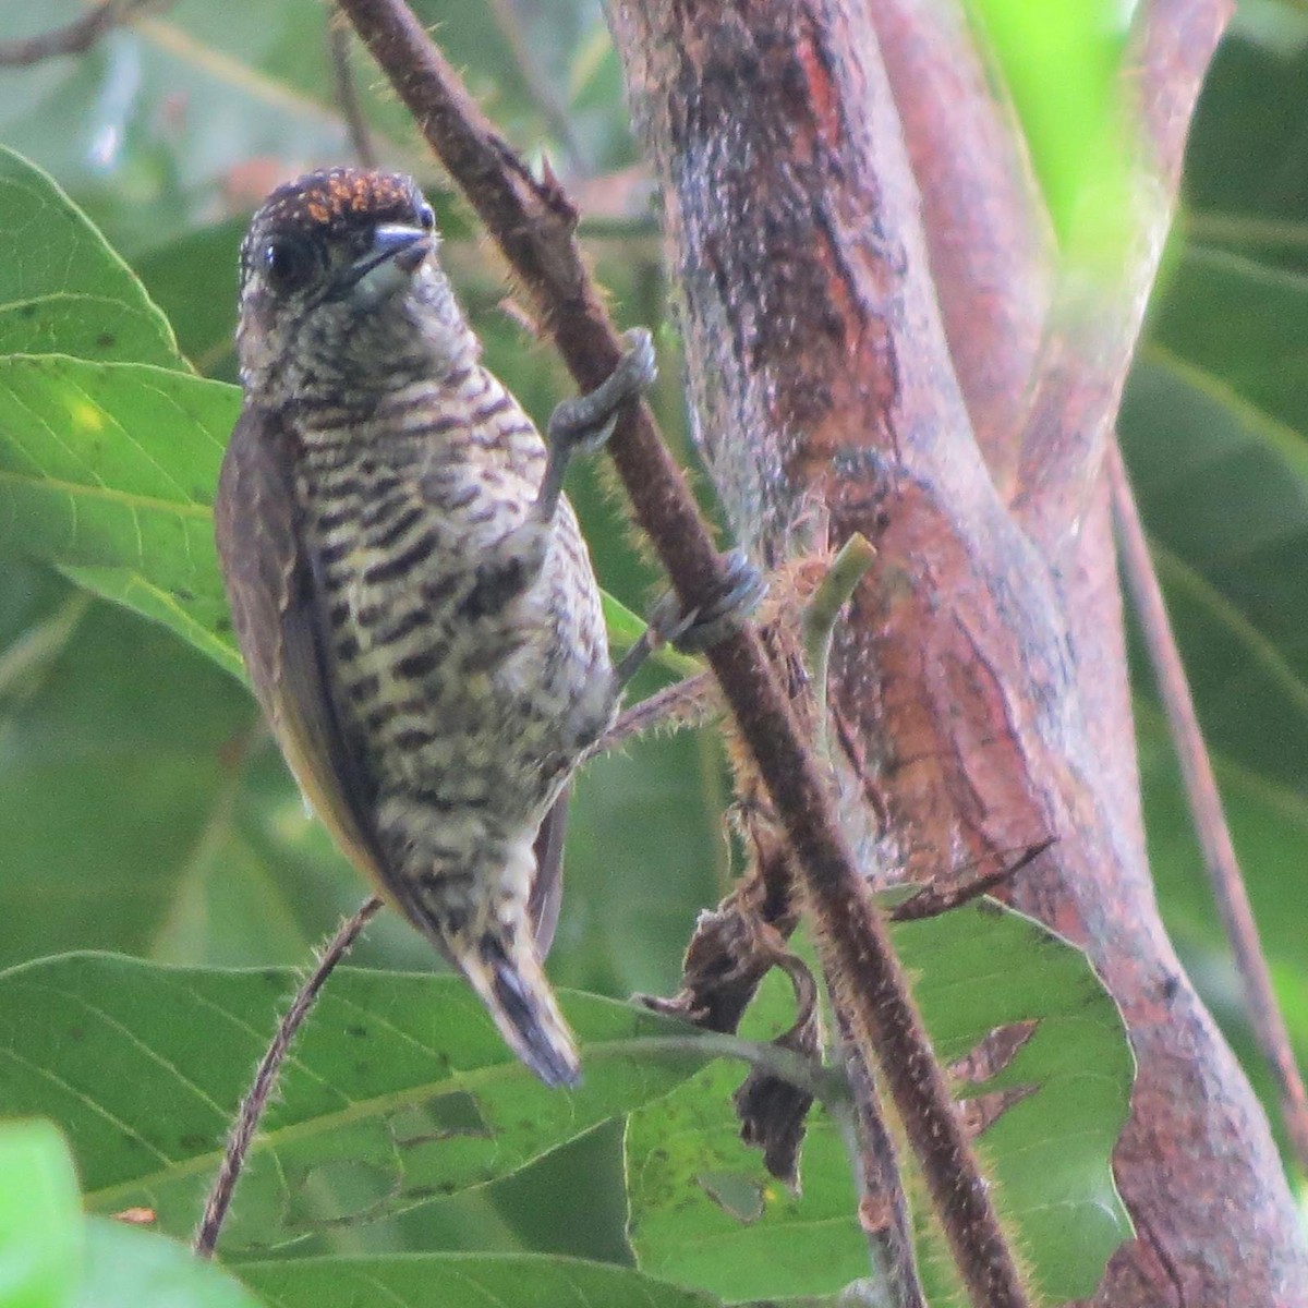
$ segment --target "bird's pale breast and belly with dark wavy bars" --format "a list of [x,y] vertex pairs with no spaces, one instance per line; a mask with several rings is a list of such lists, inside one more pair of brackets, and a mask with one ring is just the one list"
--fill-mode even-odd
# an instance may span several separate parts
[[[539,823],[612,718],[599,593],[566,501],[526,587],[501,555],[545,450],[477,366],[301,430],[300,494],[337,700],[379,797],[505,835]],[[497,570],[498,569],[498,570]]]

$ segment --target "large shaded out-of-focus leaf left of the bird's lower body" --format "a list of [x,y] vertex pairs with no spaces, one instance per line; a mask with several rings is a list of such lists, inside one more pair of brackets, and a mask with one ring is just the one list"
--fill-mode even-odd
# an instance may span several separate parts
[[[233,678],[14,564],[0,566],[0,967],[71,948],[297,964],[364,893]],[[382,940],[408,951],[373,952]],[[430,950],[396,920],[360,957],[421,967]]]

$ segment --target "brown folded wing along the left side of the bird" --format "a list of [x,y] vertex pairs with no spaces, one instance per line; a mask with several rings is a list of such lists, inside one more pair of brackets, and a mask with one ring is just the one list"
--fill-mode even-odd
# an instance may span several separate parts
[[301,539],[290,438],[245,408],[232,433],[215,530],[250,681],[290,770],[351,861],[382,888],[373,785],[331,691],[326,615]]

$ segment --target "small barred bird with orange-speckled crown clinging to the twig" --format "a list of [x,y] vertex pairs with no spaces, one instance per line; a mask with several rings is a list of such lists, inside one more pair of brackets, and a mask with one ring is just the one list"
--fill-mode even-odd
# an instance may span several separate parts
[[562,476],[637,403],[654,351],[628,334],[542,437],[483,365],[438,245],[416,183],[375,170],[310,173],[254,215],[217,547],[307,802],[522,1062],[574,1086],[542,967],[560,874],[538,850],[653,637],[613,666]]

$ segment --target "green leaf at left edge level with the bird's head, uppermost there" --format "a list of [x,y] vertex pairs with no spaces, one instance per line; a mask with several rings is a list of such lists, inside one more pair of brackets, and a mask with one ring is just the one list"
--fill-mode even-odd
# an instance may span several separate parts
[[54,179],[0,146],[0,354],[184,366],[140,281]]

